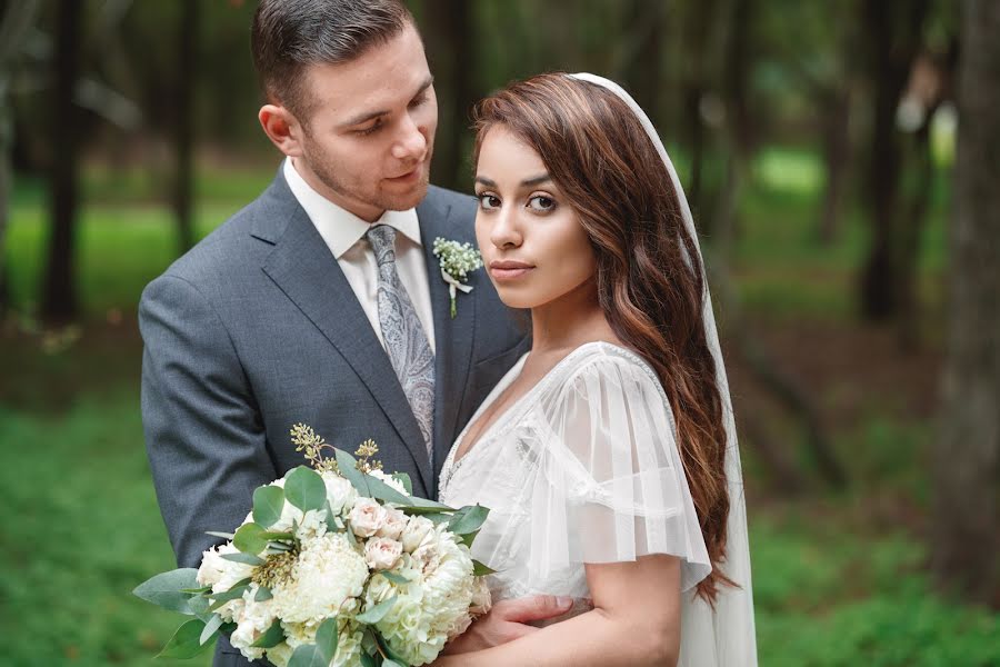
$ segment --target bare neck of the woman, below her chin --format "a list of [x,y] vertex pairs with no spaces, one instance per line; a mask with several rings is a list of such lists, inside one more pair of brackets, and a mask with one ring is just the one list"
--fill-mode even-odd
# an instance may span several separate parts
[[594,340],[618,339],[598,303],[593,280],[532,308],[531,337],[531,350],[541,354],[573,349]]

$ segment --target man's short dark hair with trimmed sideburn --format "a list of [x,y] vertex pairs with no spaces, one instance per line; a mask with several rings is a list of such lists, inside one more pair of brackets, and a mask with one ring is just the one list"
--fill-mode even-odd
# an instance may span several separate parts
[[401,0],[260,0],[250,42],[264,96],[304,121],[308,67],[353,60],[410,24]]

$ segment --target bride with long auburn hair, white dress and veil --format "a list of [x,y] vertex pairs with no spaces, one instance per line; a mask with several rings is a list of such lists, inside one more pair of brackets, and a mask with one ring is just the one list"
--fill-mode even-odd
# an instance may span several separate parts
[[477,131],[477,238],[532,348],[459,436],[440,498],[491,508],[473,556],[494,599],[574,604],[436,665],[756,665],[729,388],[663,145],[592,74],[514,83]]

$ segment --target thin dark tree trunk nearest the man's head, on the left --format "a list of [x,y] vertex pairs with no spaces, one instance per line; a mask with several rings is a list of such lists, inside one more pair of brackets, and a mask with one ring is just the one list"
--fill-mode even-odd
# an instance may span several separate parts
[[177,173],[173,189],[173,216],[177,220],[181,253],[194,245],[194,81],[198,73],[198,0],[183,0],[178,34],[177,126],[174,151]]

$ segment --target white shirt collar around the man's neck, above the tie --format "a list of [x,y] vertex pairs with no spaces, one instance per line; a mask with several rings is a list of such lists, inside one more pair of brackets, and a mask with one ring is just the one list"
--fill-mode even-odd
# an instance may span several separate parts
[[[292,195],[299,200],[336,259],[340,259],[371,228],[371,223],[313,190],[296,170],[291,158],[284,159],[283,173]],[[388,225],[418,246],[422,245],[417,209],[386,211],[373,225]]]

